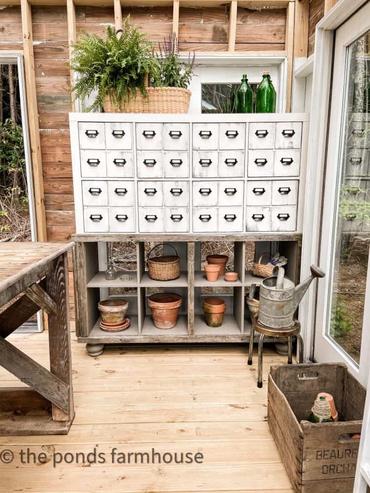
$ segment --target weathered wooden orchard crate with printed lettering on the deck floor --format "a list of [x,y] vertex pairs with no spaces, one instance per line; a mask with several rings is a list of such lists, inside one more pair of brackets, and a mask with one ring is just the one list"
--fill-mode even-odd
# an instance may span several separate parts
[[[333,395],[337,423],[306,421],[318,392]],[[352,493],[366,390],[342,363],[272,366],[268,424],[296,493]]]

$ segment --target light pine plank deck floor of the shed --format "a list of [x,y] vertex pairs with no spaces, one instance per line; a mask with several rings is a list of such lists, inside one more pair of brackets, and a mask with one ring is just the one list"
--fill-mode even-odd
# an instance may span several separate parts
[[[47,332],[9,340],[48,365]],[[247,347],[108,348],[91,358],[74,335],[72,344],[71,431],[0,437],[0,451],[15,454],[11,464],[0,464],[1,493],[293,491],[266,421],[268,369],[285,358],[266,350],[264,387],[258,389],[257,358],[247,366]],[[15,380],[0,368],[1,386],[22,385]],[[188,465],[111,464],[113,447],[126,455],[154,448],[162,454],[201,452],[204,458]],[[27,448],[45,453],[46,463],[22,464],[19,451]],[[94,448],[106,463],[53,467],[54,454],[57,461],[59,454],[87,455]]]

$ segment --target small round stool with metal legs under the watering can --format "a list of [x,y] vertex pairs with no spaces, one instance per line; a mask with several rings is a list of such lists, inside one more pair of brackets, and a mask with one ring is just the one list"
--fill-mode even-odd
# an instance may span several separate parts
[[259,343],[258,343],[258,383],[259,388],[262,387],[262,353],[263,353],[263,339],[264,336],[271,337],[287,337],[288,338],[288,364],[292,364],[292,337],[296,336],[298,343],[299,363],[303,363],[303,339],[300,335],[300,323],[298,320],[293,322],[290,327],[285,327],[283,329],[276,329],[273,327],[266,327],[259,323],[258,318],[252,317],[252,327],[251,327],[251,340],[249,342],[249,356],[248,364],[252,364],[253,355],[253,341],[255,338],[255,330],[259,332]]

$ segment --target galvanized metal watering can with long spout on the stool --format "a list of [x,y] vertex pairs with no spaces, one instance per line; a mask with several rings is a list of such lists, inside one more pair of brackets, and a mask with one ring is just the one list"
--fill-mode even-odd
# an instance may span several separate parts
[[259,322],[267,327],[290,327],[296,309],[315,278],[323,278],[325,272],[311,265],[311,276],[297,286],[284,277],[283,267],[275,267],[270,278],[261,282],[259,287]]

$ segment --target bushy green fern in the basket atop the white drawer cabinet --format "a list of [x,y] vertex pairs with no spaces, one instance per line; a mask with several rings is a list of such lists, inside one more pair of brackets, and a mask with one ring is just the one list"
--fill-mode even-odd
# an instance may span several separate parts
[[146,97],[147,77],[156,77],[158,62],[147,35],[130,26],[130,16],[119,32],[120,36],[108,26],[106,39],[82,32],[74,46],[71,69],[80,75],[73,88],[76,97],[84,99],[98,91],[86,111],[99,111],[107,95],[117,107],[135,98],[137,90]]

